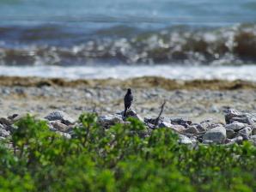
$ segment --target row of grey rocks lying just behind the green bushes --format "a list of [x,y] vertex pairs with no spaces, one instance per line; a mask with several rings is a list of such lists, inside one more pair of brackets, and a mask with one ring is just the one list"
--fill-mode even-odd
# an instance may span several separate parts
[[[256,114],[244,113],[235,109],[225,111],[225,123],[218,123],[213,119],[205,119],[200,123],[193,123],[191,120],[183,118],[143,118],[136,111],[127,111],[116,114],[108,114],[98,117],[98,123],[102,129],[109,129],[116,123],[130,123],[128,117],[137,118],[145,125],[145,131],[141,133],[142,137],[149,136],[155,129],[172,129],[180,137],[180,144],[197,145],[203,143],[232,145],[241,144],[242,141],[250,141],[256,146]],[[15,123],[26,115],[14,114],[7,118],[0,118],[0,139],[9,137],[12,130],[15,129]],[[46,117],[39,118],[46,121],[50,130],[59,135],[70,139],[74,128],[79,128],[82,124],[69,117],[64,111],[53,111]],[[132,134],[132,133],[131,133]]]

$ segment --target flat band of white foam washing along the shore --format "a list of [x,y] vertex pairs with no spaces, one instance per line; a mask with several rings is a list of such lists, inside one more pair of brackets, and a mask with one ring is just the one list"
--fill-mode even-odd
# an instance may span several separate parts
[[0,75],[61,77],[66,79],[126,79],[139,76],[163,76],[169,79],[220,79],[256,81],[256,65],[243,66],[0,66]]

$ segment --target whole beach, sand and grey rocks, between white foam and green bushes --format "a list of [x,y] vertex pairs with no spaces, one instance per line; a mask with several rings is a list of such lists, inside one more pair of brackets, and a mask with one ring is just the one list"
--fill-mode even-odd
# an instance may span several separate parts
[[[68,138],[77,126],[74,119],[82,112],[96,112],[105,129],[114,123],[127,123],[120,111],[124,110],[125,90],[131,87],[134,102],[128,115],[146,125],[145,136],[154,129],[167,127],[180,135],[181,143],[255,142],[254,82],[171,81],[158,77],[127,81],[0,79],[1,138],[9,136],[13,123],[27,112],[43,118],[50,129]],[[166,105],[162,118],[155,125],[163,100]]]

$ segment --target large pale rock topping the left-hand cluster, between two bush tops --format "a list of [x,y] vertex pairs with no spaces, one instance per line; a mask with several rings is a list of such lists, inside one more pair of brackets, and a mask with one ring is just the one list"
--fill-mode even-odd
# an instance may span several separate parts
[[61,121],[61,123],[64,123],[65,125],[76,123],[76,121],[73,118],[69,117],[64,111],[53,111],[45,118],[49,121],[59,120]]

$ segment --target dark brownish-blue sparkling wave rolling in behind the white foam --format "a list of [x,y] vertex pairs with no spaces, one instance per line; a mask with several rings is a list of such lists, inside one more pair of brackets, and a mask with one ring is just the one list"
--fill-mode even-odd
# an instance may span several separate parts
[[256,25],[115,26],[83,32],[58,26],[0,27],[2,65],[256,63]]

